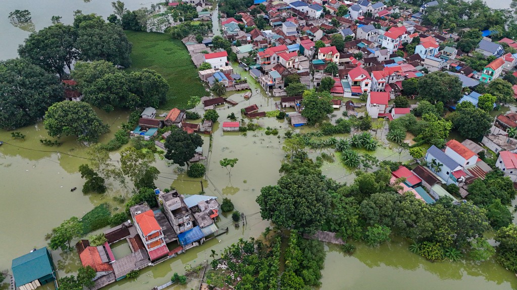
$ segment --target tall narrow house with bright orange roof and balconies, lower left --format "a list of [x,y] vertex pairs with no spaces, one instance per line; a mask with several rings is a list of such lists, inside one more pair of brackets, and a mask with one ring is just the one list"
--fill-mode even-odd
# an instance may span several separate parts
[[163,230],[155,218],[153,210],[146,202],[132,206],[129,209],[135,222],[135,228],[142,239],[151,261],[155,261],[169,254],[165,244]]

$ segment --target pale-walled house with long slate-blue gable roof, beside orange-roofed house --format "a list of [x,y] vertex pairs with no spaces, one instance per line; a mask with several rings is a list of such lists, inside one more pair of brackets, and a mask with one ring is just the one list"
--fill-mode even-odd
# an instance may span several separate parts
[[431,171],[443,179],[447,185],[452,183],[458,185],[459,182],[465,180],[466,173],[462,170],[461,165],[436,146],[433,145],[428,149],[425,153],[425,160]]

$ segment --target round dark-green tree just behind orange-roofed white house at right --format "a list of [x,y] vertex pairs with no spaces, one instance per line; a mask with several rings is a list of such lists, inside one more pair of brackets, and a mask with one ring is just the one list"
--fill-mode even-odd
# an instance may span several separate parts
[[489,132],[493,119],[479,108],[461,109],[453,120],[454,127],[462,137],[477,139]]

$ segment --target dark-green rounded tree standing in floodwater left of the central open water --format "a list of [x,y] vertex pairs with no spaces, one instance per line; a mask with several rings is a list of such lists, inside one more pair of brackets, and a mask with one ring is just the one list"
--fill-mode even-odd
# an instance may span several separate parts
[[197,147],[203,146],[203,139],[197,134],[188,134],[183,130],[174,130],[165,139],[165,158],[179,166],[189,166],[189,160],[195,156]]

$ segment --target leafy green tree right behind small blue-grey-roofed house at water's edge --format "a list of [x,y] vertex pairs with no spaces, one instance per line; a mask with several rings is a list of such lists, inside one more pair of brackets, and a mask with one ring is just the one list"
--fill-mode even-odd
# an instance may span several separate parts
[[328,91],[315,92],[314,89],[303,93],[303,110],[301,115],[306,117],[309,124],[321,122],[327,114],[333,112],[332,96]]

